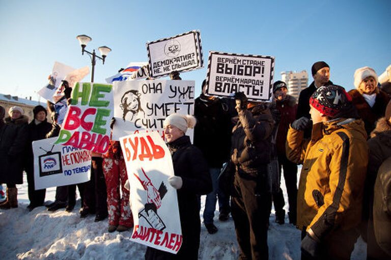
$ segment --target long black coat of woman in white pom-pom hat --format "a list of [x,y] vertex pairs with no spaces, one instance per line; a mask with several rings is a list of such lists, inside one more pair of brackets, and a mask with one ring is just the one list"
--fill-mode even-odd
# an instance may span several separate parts
[[167,145],[173,159],[174,174],[180,176],[183,181],[182,188],[177,190],[183,238],[182,246],[177,254],[148,247],[145,259],[195,260],[198,259],[201,232],[198,196],[212,191],[212,180],[202,152],[191,145],[188,136],[182,136]]

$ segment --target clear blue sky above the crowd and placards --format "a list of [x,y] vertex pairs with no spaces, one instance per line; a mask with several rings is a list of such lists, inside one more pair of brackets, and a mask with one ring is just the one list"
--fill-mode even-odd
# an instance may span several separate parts
[[[95,82],[104,82],[129,62],[147,61],[147,41],[190,30],[201,31],[205,61],[209,50],[271,55],[280,80],[281,71],[311,74],[312,64],[324,60],[331,81],[349,90],[355,69],[370,66],[380,75],[391,64],[390,12],[389,0],[0,0],[0,93],[38,100],[55,61],[90,65],[79,34],[92,37],[90,51],[113,49],[95,66]],[[206,72],[205,66],[181,75],[195,80],[197,96]]]

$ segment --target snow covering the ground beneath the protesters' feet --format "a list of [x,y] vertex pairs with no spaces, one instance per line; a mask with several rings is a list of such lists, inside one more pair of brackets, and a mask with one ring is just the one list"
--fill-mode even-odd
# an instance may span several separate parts
[[[72,213],[64,210],[49,213],[44,206],[29,212],[25,176],[24,184],[17,188],[19,207],[0,210],[1,259],[144,259],[146,247],[129,240],[131,231],[108,233],[106,220],[94,222],[94,216],[81,219],[80,200]],[[287,211],[285,185],[282,188]],[[47,189],[46,200],[54,201],[54,195],[55,188]],[[202,209],[204,203],[205,196]],[[232,218],[220,222],[217,217],[216,211],[215,225],[219,230],[214,235],[209,235],[202,225],[200,259],[236,259],[234,222]],[[270,216],[268,244],[270,259],[300,259],[300,231],[291,224],[274,223],[274,211]],[[366,250],[366,244],[359,239],[352,259],[366,259]]]

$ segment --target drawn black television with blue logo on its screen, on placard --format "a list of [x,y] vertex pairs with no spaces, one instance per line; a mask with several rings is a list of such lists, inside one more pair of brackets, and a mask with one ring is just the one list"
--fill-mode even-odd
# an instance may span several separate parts
[[54,145],[51,147],[50,151],[46,151],[46,154],[42,154],[38,157],[39,161],[39,176],[48,176],[53,174],[59,174],[63,172],[63,165],[61,162],[61,152],[52,152]]

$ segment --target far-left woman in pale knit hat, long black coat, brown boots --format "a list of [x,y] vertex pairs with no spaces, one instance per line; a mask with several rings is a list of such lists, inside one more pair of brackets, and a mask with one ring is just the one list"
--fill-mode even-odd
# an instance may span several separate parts
[[23,155],[29,122],[20,107],[10,108],[8,114],[0,128],[0,183],[7,184],[7,200],[0,204],[0,209],[18,207],[16,184],[23,183]]

